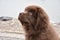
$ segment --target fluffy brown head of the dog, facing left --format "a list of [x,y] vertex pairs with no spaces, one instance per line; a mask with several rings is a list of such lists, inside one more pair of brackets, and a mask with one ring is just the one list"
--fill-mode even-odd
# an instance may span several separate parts
[[36,26],[45,26],[49,22],[48,15],[39,6],[26,7],[25,11],[19,14],[18,19],[22,25],[33,28]]

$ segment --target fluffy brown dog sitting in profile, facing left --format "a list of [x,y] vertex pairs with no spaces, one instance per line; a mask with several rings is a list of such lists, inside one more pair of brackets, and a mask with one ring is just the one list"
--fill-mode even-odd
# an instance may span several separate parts
[[19,14],[18,20],[25,30],[25,40],[59,40],[48,15],[39,6],[26,7],[25,11]]

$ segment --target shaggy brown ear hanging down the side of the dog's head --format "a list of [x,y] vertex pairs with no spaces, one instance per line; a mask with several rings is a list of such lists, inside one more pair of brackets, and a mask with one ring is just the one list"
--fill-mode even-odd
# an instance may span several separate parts
[[42,26],[42,28],[45,26],[47,27],[47,25],[49,23],[49,17],[47,15],[47,13],[45,12],[45,10],[43,8],[39,7],[37,9],[37,13],[38,13],[38,16],[37,16],[37,22],[36,22],[35,26],[38,26],[38,28],[39,28],[39,25]]

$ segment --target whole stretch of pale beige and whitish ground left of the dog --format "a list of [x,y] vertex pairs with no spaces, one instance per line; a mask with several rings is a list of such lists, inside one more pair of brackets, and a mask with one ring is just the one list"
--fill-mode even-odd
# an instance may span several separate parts
[[24,40],[22,25],[16,18],[0,20],[0,40]]

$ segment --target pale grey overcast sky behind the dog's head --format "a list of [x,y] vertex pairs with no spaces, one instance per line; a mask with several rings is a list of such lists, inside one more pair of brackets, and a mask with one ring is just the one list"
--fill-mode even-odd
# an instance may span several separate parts
[[17,18],[28,5],[42,5],[50,20],[60,22],[60,0],[0,0],[0,16]]

